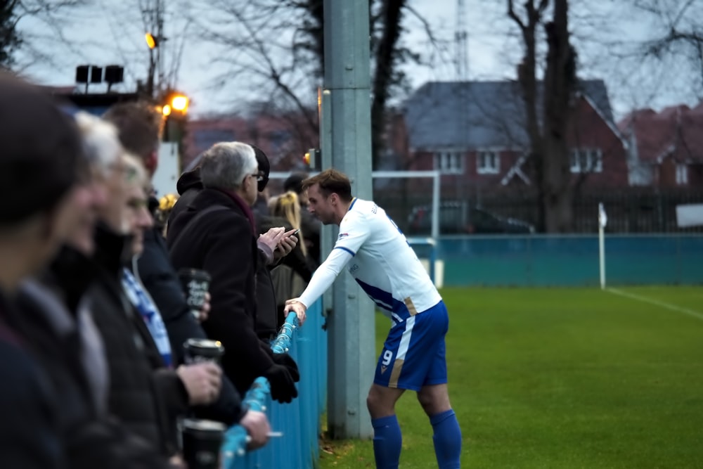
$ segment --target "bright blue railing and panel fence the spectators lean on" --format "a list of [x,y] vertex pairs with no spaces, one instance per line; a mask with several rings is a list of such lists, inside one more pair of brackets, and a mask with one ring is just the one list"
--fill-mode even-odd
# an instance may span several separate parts
[[262,449],[246,451],[247,432],[239,425],[227,430],[222,445],[225,469],[305,469],[317,465],[320,417],[325,409],[327,392],[327,336],[322,326],[321,302],[307,310],[307,321],[297,327],[295,314],[289,314],[276,340],[274,352],[288,352],[297,362],[300,381],[298,397],[290,404],[271,400],[269,383],[257,378],[244,397],[250,409],[264,411],[271,430],[283,436],[273,437]]

